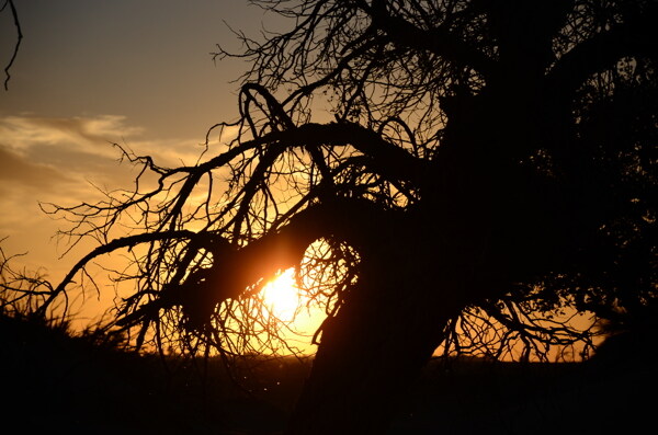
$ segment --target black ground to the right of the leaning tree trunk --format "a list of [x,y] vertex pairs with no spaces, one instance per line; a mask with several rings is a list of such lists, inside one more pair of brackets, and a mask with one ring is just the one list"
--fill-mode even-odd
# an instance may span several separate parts
[[646,433],[658,405],[656,344],[647,329],[585,363],[433,360],[389,434]]

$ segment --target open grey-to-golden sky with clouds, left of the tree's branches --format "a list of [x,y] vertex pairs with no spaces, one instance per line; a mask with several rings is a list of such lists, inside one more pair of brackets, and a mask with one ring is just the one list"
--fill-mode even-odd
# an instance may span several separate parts
[[[131,186],[112,142],[159,162],[191,163],[208,127],[237,118],[242,60],[214,62],[230,27],[258,37],[279,21],[247,1],[14,0],[24,38],[0,90],[0,244],[57,281],[87,247],[67,254],[52,237],[66,222],[42,203],[75,205],[97,187]],[[0,14],[0,65],[16,38]],[[2,78],[3,80],[4,78]]]

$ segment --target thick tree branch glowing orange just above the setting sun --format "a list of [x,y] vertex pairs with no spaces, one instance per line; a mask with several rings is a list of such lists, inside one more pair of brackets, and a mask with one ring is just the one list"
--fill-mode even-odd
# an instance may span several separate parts
[[193,323],[198,324],[207,320],[218,304],[252,296],[248,289],[261,279],[297,266],[314,241],[336,238],[359,247],[378,238],[379,222],[390,221],[394,214],[363,199],[332,199],[309,206],[279,231],[266,233],[240,250],[216,252],[209,268],[189,277],[189,282],[168,287],[159,298],[117,324],[129,327],[161,308],[178,305],[185,307],[195,317]]

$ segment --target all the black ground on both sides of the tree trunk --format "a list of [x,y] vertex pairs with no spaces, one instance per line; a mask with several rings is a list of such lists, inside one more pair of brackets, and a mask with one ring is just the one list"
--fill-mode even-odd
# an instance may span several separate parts
[[[613,340],[583,364],[433,362],[404,399],[389,435],[651,433],[654,332]],[[239,375],[250,393],[229,381],[218,360],[209,363],[205,382],[200,367],[170,362],[169,369],[157,357],[0,317],[0,432],[276,433],[308,362],[254,359]]]

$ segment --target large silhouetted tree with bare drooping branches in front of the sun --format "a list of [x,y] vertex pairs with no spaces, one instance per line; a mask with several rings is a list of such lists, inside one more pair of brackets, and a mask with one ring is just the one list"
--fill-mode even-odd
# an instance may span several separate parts
[[194,165],[123,151],[134,190],[52,209],[100,244],[42,310],[127,250],[112,325],[228,360],[296,267],[328,317],[290,433],[332,434],[381,432],[440,345],[546,358],[591,345],[569,312],[655,307],[656,1],[257,3],[294,25],[216,54],[251,61],[239,121]]

